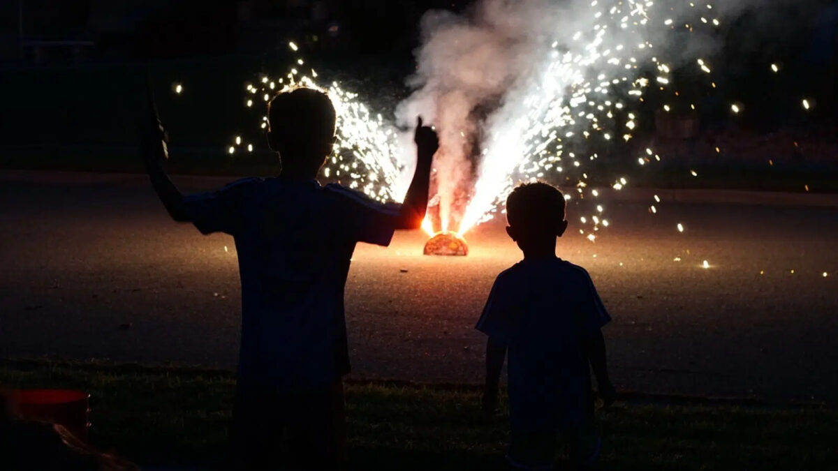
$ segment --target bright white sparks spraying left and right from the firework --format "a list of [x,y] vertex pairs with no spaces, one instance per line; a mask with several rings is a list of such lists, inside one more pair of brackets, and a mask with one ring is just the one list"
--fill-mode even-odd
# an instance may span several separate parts
[[[678,3],[690,8],[675,8]],[[711,5],[706,7],[712,10]],[[621,142],[631,141],[631,132],[640,126],[639,116],[648,116],[640,113],[641,109],[696,109],[695,104],[684,102],[675,91],[673,66],[666,60],[665,47],[655,48],[652,39],[660,38],[662,30],[682,27],[690,32],[700,28],[715,32],[720,24],[718,18],[702,18],[694,4],[683,0],[670,0],[665,7],[648,0],[594,0],[588,8],[587,18],[577,22],[584,27],[571,34],[556,31],[554,38],[546,38],[544,59],[536,61],[531,72],[520,77],[524,84],[519,92],[505,97],[504,106],[484,123],[486,137],[480,142],[480,158],[474,163],[475,178],[471,188],[463,189],[468,204],[460,210],[462,214],[438,221],[442,227],[433,227],[430,220],[425,220],[422,228],[429,235],[439,230],[465,234],[492,219],[519,182],[558,181],[561,177],[561,181],[574,187],[566,192],[566,199],[597,198],[599,193],[590,184],[591,175],[584,165],[599,157],[593,149],[607,146],[614,137]],[[673,13],[684,18],[673,18]],[[293,42],[288,47],[293,53],[300,49]],[[694,60],[699,70],[714,74],[708,59]],[[269,101],[277,92],[299,86],[326,92],[337,111],[338,136],[323,176],[359,189],[373,199],[401,200],[411,178],[415,153],[412,146],[403,148],[410,141],[401,139],[401,132],[388,119],[370,111],[357,94],[345,91],[337,82],[318,84],[317,73],[310,70],[306,74],[303,63],[303,59],[295,58],[294,68],[287,74],[263,75],[256,85],[246,85],[246,106],[258,108],[253,106],[254,99]],[[772,64],[771,69],[778,72],[779,65]],[[707,82],[716,88],[715,81]],[[647,91],[659,89],[671,93],[668,102],[656,99],[655,105],[644,99]],[[804,107],[809,109],[810,102],[804,100]],[[742,104],[732,103],[731,110],[741,113]],[[266,129],[266,116],[259,125]],[[235,146],[230,146],[229,153],[235,153],[239,146],[241,138],[235,137]],[[251,151],[252,145],[247,144],[247,149]],[[716,153],[721,150],[716,148]],[[649,148],[645,155],[632,159],[649,167],[650,163],[660,162],[661,156]],[[694,170],[691,174],[697,176]],[[436,178],[449,177],[437,174]],[[611,175],[608,179],[615,190],[629,185],[625,177]],[[658,195],[654,195],[654,201],[660,203]],[[593,208],[585,219],[590,224],[583,224],[580,230],[589,241],[596,240],[594,231],[608,226],[608,220],[603,219],[603,206]],[[440,211],[451,212],[450,208]],[[650,212],[658,211],[651,206]],[[684,232],[684,225],[679,223],[676,227],[678,232]]]

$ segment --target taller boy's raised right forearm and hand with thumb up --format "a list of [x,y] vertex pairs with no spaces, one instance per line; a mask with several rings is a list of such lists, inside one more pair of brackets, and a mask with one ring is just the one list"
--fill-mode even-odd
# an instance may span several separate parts
[[425,219],[427,211],[428,187],[431,185],[431,162],[433,154],[439,148],[437,132],[431,127],[422,126],[422,117],[416,119],[416,173],[410,188],[407,189],[401,214],[396,221],[396,229],[418,229]]

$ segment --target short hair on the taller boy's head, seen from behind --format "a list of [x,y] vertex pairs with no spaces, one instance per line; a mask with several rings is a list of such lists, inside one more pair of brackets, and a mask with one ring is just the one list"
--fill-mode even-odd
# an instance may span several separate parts
[[295,153],[322,148],[334,137],[336,114],[332,100],[313,88],[295,88],[268,103],[268,124],[274,142]]

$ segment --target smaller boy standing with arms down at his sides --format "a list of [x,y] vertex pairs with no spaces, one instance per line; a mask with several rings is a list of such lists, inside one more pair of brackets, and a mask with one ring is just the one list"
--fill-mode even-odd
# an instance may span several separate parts
[[520,185],[506,200],[506,219],[506,232],[524,260],[498,275],[477,323],[489,336],[484,411],[497,405],[509,350],[511,468],[554,469],[559,434],[570,445],[572,461],[584,468],[601,447],[591,369],[605,406],[615,396],[600,330],[611,318],[587,272],[556,257],[556,237],[567,229],[561,191],[543,183]]

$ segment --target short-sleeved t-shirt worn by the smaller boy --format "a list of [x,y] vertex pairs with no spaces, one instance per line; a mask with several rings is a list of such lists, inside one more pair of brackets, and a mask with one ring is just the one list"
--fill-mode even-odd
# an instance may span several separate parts
[[591,375],[582,339],[611,318],[582,267],[551,257],[499,274],[477,329],[508,347],[514,430],[556,430],[582,420]]

